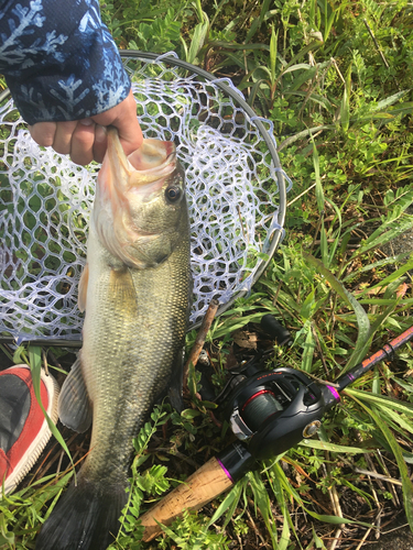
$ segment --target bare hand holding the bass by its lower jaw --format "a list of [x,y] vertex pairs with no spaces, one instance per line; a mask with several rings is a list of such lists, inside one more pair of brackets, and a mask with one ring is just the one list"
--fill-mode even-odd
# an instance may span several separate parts
[[106,128],[116,127],[124,153],[129,155],[142,144],[142,131],[137,118],[137,103],[132,94],[116,107],[89,119],[64,122],[36,122],[29,127],[33,140],[57,153],[70,155],[76,164],[91,161],[101,163],[107,148]]

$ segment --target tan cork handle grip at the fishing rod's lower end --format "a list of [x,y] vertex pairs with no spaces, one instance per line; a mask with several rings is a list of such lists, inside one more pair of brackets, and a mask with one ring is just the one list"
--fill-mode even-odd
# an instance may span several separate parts
[[231,485],[230,477],[217,459],[210,459],[139,518],[145,528],[142,540],[148,542],[162,532],[155,519],[161,524],[170,525],[182,515],[184,509],[202,508]]

